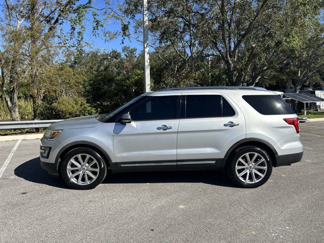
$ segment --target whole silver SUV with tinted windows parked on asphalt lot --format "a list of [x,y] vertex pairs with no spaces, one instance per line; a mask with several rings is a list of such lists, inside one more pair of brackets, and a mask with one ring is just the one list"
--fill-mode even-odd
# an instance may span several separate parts
[[298,116],[277,93],[201,87],[145,93],[110,114],[52,124],[40,159],[75,189],[96,187],[108,171],[176,170],[224,170],[253,188],[302,156]]

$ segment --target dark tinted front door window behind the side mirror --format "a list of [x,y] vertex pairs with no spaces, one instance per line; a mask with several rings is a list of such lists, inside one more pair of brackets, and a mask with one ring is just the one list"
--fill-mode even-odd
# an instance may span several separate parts
[[131,108],[133,120],[161,120],[176,118],[177,96],[148,97]]

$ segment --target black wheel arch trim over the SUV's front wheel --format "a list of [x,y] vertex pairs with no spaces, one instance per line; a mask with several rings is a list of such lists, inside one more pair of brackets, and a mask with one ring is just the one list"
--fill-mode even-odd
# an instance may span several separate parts
[[88,142],[88,141],[77,141],[77,142],[72,142],[67,145],[65,145],[61,150],[58,152],[55,158],[55,164],[57,165],[57,171],[60,173],[60,167],[61,167],[61,162],[64,156],[71,151],[74,148],[79,148],[79,147],[85,147],[85,148],[90,148],[99,153],[103,159],[105,160],[107,169],[110,170],[112,173],[115,173],[116,170],[118,170],[116,167],[114,167],[114,163],[112,163],[112,160],[109,156],[109,154],[99,145]]

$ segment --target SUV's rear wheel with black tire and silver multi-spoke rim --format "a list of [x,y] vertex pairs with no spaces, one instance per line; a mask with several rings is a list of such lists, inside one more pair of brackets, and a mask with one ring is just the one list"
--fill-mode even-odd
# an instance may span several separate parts
[[227,164],[227,174],[231,180],[244,188],[263,185],[270,178],[271,172],[272,161],[269,154],[255,146],[239,148]]

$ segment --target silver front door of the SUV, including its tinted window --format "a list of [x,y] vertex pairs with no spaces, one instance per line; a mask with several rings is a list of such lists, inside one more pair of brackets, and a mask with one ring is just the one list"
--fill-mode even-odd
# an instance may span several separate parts
[[130,108],[132,123],[115,123],[113,148],[120,171],[176,170],[180,94],[147,96]]

